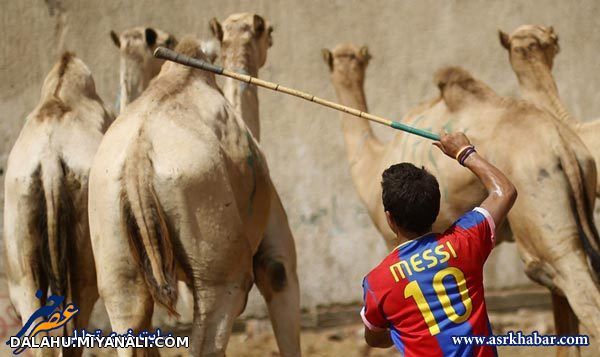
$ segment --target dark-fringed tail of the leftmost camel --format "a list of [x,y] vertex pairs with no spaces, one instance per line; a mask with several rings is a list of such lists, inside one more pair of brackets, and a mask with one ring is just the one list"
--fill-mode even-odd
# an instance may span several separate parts
[[60,158],[41,164],[41,186],[37,210],[41,237],[43,274],[54,295],[71,297],[70,261],[74,259],[75,219],[73,202],[65,185],[68,168]]

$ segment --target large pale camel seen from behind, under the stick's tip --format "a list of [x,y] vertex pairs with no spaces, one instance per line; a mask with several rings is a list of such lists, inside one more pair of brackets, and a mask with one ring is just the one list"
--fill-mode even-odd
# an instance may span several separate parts
[[[193,38],[176,50],[207,60]],[[286,267],[259,254],[273,194],[260,146],[214,75],[165,63],[107,131],[90,174],[92,249],[113,330],[147,330],[154,302],[175,313],[183,280],[194,294],[192,355],[223,356],[253,265],[267,267],[275,291],[288,284]]]

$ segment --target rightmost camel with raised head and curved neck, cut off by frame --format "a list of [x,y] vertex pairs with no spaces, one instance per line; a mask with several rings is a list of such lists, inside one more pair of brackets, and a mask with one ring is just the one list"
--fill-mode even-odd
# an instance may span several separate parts
[[[500,43],[508,50],[510,64],[519,80],[521,95],[531,103],[549,111],[570,126],[600,163],[600,120],[581,122],[574,118],[560,99],[552,75],[554,57],[558,54],[558,35],[552,27],[524,25],[510,35],[499,31]],[[600,170],[598,171],[600,174]],[[600,197],[600,176],[596,196]],[[596,205],[596,224],[600,224],[600,205]]]

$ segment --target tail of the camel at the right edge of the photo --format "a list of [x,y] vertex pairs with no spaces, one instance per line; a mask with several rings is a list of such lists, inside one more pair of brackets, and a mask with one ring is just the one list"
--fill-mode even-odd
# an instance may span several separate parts
[[594,224],[594,207],[590,206],[589,200],[586,199],[588,197],[587,185],[575,152],[562,136],[560,136],[560,140],[558,154],[573,194],[572,206],[577,220],[579,239],[595,275],[600,277],[600,253],[598,251],[600,237]]

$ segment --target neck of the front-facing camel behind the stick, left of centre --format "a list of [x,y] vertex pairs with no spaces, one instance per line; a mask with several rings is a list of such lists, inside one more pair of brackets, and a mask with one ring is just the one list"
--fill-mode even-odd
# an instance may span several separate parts
[[[223,66],[238,73],[258,77],[258,66],[253,64],[247,55],[224,53]],[[225,98],[242,116],[244,122],[256,140],[260,141],[260,121],[258,107],[258,92],[255,85],[226,78],[223,84]]]

